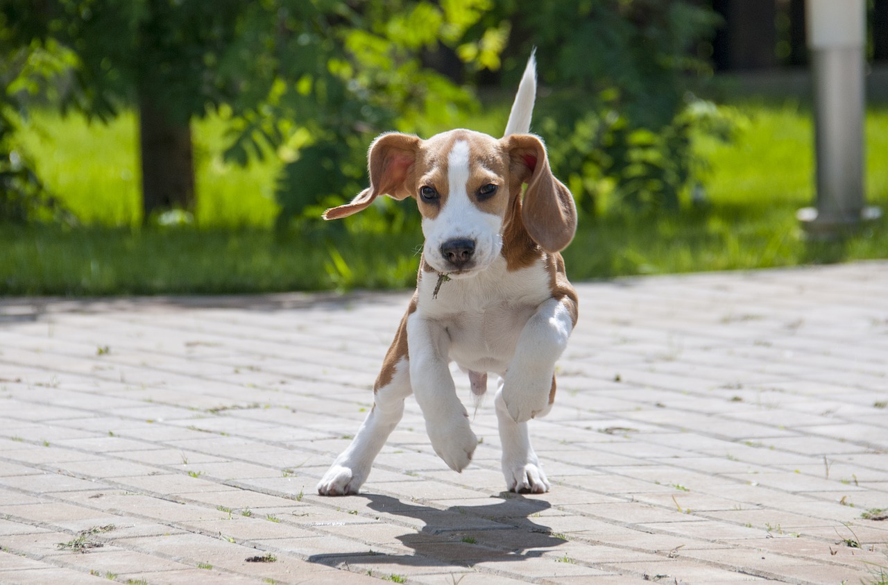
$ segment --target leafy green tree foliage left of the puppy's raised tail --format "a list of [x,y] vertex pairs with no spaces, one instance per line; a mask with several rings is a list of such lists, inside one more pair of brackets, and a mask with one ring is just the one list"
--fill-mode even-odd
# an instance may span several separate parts
[[282,226],[360,190],[375,134],[418,130],[472,106],[470,94],[423,67],[420,54],[443,43],[496,67],[507,28],[472,29],[489,6],[8,0],[0,18],[10,47],[37,43],[75,56],[53,104],[105,122],[121,105],[147,105],[178,128],[216,113],[231,128],[227,160],[279,158]]

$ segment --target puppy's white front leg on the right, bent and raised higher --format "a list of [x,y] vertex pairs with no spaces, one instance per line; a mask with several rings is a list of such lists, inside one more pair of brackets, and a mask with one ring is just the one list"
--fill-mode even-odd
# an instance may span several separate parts
[[546,415],[554,399],[555,360],[567,347],[574,320],[567,298],[550,298],[521,330],[503,385],[503,406],[512,420],[524,423]]

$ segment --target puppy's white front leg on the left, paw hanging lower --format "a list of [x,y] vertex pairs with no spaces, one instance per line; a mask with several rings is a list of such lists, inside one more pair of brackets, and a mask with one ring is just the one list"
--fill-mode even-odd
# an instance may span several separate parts
[[450,469],[462,471],[472,461],[478,439],[450,376],[448,333],[439,323],[416,313],[408,319],[407,330],[410,380],[423,411],[425,431],[435,453]]

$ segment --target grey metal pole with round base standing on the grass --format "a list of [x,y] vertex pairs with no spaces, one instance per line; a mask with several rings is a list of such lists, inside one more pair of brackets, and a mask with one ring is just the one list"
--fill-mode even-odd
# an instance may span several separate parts
[[798,218],[813,236],[840,235],[879,217],[864,203],[863,121],[865,0],[806,0],[811,51],[816,207]]

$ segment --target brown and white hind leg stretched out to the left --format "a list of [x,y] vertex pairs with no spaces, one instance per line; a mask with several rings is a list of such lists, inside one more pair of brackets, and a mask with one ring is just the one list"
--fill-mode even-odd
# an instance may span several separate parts
[[404,399],[410,395],[410,366],[404,322],[385,356],[383,369],[373,391],[373,408],[355,434],[351,445],[340,454],[318,484],[318,494],[357,494],[367,480],[373,460],[385,445],[404,414]]

